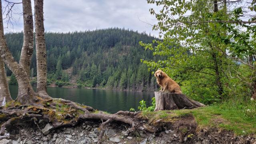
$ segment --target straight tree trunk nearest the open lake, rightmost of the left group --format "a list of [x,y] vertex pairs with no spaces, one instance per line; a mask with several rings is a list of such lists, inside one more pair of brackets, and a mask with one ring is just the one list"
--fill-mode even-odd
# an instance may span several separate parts
[[36,68],[37,87],[36,91],[46,94],[47,72],[46,72],[46,48],[44,38],[44,12],[43,0],[34,0],[35,6],[35,31],[36,31]]

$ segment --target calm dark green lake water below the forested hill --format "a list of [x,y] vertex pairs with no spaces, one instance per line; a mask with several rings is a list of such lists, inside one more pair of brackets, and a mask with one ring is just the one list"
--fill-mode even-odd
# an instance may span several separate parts
[[[18,94],[18,86],[10,85],[10,93],[13,99]],[[117,90],[98,90],[83,88],[58,88],[47,87],[49,96],[72,100],[80,104],[92,106],[94,109],[115,113],[119,110],[138,110],[140,100],[145,100],[147,106],[151,106],[151,98],[154,92],[129,92]]]

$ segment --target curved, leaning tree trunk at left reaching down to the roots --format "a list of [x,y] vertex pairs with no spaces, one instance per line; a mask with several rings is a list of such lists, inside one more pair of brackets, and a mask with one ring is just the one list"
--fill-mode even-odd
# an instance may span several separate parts
[[[0,1],[0,5],[2,1]],[[0,8],[0,13],[2,13],[2,7]],[[31,104],[34,103],[33,96],[36,96],[36,93],[32,89],[29,78],[26,74],[26,71],[22,66],[16,62],[7,48],[6,40],[4,37],[4,26],[2,14],[0,14],[0,55],[8,68],[14,73],[19,84],[20,94],[17,97],[17,100],[22,104]]]

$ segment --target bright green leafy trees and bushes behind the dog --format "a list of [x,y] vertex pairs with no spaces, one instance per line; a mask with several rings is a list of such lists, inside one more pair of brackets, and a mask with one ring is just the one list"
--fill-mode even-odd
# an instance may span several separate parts
[[[180,84],[184,94],[204,104],[234,95],[245,100],[255,93],[256,26],[245,24],[255,19],[242,21],[245,7],[253,7],[255,14],[254,3],[147,1],[161,8],[159,12],[150,9],[150,13],[158,20],[153,30],[159,30],[163,38],[151,44],[140,42],[153,56],[162,58],[142,59],[150,70],[162,69]],[[234,85],[240,92],[234,94],[238,91]]]

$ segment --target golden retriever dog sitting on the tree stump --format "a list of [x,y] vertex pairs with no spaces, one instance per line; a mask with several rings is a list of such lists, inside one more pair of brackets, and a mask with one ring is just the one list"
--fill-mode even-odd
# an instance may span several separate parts
[[154,76],[156,77],[156,82],[161,86],[161,90],[159,92],[174,92],[176,94],[182,94],[180,86],[162,70],[157,70]]

